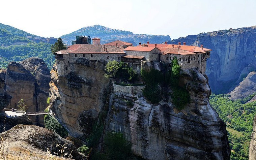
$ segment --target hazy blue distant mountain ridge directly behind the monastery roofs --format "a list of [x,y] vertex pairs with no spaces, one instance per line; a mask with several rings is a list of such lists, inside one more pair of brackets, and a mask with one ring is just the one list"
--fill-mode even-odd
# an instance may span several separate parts
[[76,39],[76,36],[90,36],[91,38],[101,38],[101,44],[112,42],[115,40],[122,40],[129,43],[133,43],[134,46],[139,42],[146,43],[163,43],[167,40],[171,40],[169,35],[147,35],[147,34],[134,34],[130,31],[123,31],[117,29],[111,29],[101,25],[93,25],[83,27],[77,31],[61,36],[63,42],[66,44],[72,44],[72,40]]

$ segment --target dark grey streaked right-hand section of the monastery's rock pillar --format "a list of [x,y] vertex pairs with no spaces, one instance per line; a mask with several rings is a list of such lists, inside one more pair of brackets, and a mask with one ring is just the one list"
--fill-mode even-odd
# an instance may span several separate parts
[[209,104],[207,79],[195,69],[183,75],[191,95],[184,109],[171,100],[152,105],[143,97],[116,93],[106,130],[123,133],[134,154],[144,159],[229,159],[226,126]]

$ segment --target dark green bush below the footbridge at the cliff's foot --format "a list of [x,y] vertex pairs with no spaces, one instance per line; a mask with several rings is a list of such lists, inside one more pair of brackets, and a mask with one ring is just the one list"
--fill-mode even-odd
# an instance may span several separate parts
[[49,115],[49,114],[46,115],[44,118],[44,122],[45,122],[46,129],[55,131],[62,138],[68,135],[66,129],[63,126],[61,126],[61,124],[55,118],[53,118],[51,115]]

